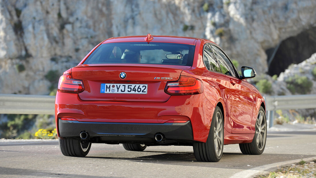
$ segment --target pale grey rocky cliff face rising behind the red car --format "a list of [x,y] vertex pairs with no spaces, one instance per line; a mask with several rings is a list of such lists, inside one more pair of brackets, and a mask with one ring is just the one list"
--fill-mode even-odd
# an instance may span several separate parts
[[2,0],[0,93],[48,94],[100,41],[147,33],[210,39],[263,73],[265,50],[316,26],[315,8],[314,0]]

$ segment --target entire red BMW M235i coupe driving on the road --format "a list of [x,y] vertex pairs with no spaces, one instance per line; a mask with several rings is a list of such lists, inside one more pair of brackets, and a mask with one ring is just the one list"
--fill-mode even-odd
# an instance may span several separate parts
[[60,77],[56,128],[61,152],[83,157],[91,143],[193,146],[218,162],[223,145],[258,155],[266,141],[265,102],[214,42],[179,36],[102,41]]

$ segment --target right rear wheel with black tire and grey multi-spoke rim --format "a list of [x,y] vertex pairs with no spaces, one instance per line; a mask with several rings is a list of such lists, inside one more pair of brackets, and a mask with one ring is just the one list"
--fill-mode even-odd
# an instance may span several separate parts
[[216,106],[211,122],[210,133],[206,143],[193,143],[194,156],[197,161],[218,162],[222,158],[223,147],[223,114],[221,109]]

